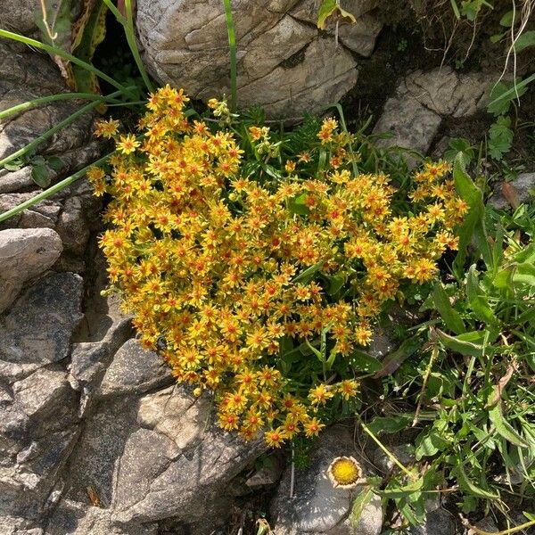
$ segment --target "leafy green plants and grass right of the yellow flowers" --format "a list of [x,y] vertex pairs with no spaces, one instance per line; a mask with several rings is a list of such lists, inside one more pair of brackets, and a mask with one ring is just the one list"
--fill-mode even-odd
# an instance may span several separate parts
[[505,519],[511,498],[535,498],[535,208],[509,216],[483,207],[461,155],[454,177],[471,208],[460,261],[422,306],[430,318],[413,331],[423,350],[387,377],[387,416],[368,424],[376,433],[419,430],[410,473],[374,489],[410,524],[444,493],[464,514],[484,504]]

